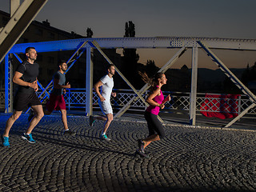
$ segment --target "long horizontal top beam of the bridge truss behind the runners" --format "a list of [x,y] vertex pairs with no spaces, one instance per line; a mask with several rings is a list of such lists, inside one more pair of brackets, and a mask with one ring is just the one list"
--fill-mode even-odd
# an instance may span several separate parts
[[[34,42],[38,53],[77,50],[82,42],[97,42],[102,49],[116,48],[192,48],[200,47],[197,41],[206,42],[209,48],[225,50],[256,50],[256,39],[234,38],[78,38],[51,42]],[[10,53],[24,53],[31,43],[16,44]]]

